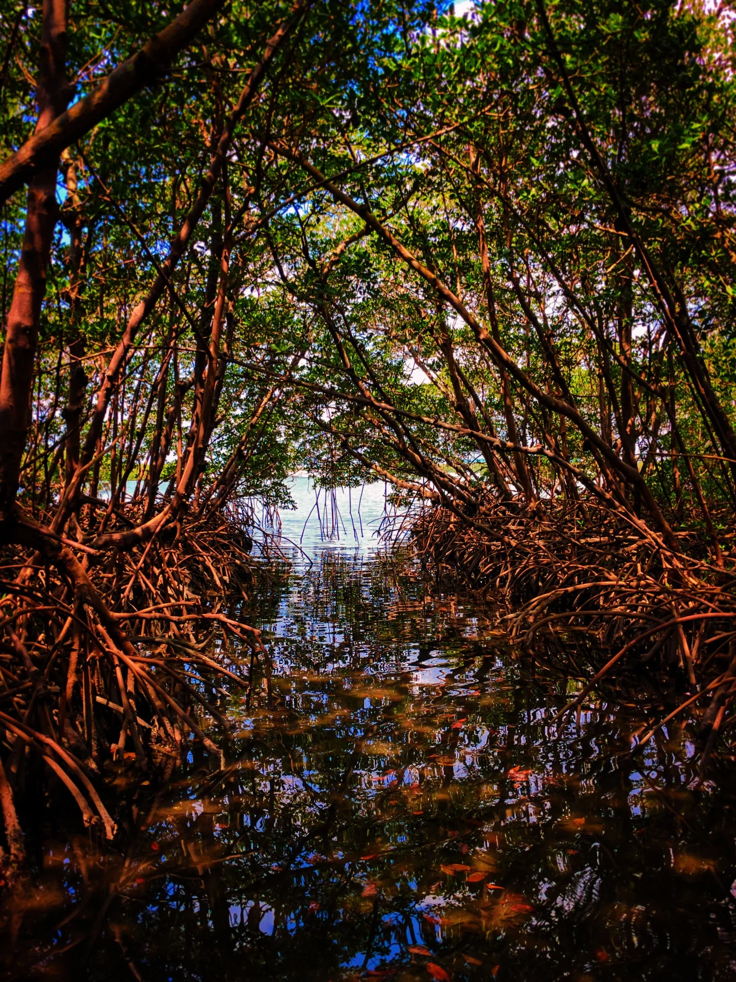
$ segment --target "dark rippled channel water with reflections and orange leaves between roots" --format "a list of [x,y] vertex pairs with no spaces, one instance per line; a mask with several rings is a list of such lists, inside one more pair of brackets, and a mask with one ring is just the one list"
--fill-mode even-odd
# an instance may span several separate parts
[[5,977],[736,978],[733,761],[694,790],[687,721],[629,755],[681,693],[642,676],[552,725],[581,682],[492,608],[303,547],[243,612],[273,666],[223,695],[224,774],[194,745],[164,787],[121,771],[114,846],[41,806]]

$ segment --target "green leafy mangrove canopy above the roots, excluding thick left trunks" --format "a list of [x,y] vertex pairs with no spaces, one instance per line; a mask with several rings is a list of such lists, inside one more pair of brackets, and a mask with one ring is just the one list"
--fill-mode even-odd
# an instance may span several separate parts
[[[15,34],[6,13],[6,151],[31,123],[41,13]],[[36,515],[284,13],[229,6],[64,151],[21,485]],[[169,16],[73,4],[73,98]],[[173,493],[220,290],[200,509],[238,457],[240,497],[282,501],[296,466],[335,482],[372,465],[462,511],[489,485],[535,500],[593,482],[659,532],[698,500],[710,525],[736,466],[715,460],[736,453],[729,39],[669,4],[312,6],[119,368],[90,495],[137,481],[150,518]],[[25,212],[21,192],[4,205],[4,313]]]

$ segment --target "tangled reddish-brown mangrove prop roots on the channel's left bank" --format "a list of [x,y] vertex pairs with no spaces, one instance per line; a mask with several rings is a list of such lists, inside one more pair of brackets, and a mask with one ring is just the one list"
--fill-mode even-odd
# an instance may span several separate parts
[[26,861],[22,825],[34,820],[26,799],[39,782],[112,839],[101,781],[110,762],[170,772],[194,739],[224,767],[206,733],[224,726],[223,681],[247,691],[248,665],[265,649],[238,617],[255,562],[234,522],[177,523],[137,549],[105,552],[27,518],[6,537],[0,880],[12,883]]

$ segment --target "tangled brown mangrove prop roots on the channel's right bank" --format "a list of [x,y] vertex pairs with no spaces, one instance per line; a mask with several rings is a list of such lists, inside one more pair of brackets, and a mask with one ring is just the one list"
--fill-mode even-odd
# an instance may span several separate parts
[[733,557],[725,556],[725,569],[712,566],[698,530],[678,533],[675,552],[595,501],[527,509],[489,501],[480,522],[495,534],[435,508],[414,521],[411,542],[438,576],[459,578],[506,608],[508,639],[527,653],[544,643],[564,660],[581,638],[588,655],[591,647],[612,652],[600,667],[589,657],[593,677],[555,719],[619,663],[656,667],[697,689],[667,720],[693,705],[708,707],[700,734],[704,774],[718,735],[734,722],[725,719],[736,695]]

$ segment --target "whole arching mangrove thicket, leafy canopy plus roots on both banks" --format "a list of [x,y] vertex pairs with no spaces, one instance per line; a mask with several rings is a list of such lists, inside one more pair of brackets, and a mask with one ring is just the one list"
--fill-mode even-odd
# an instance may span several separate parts
[[706,768],[736,686],[730,20],[0,6],[6,872],[49,782],[113,837],[105,762],[227,766],[218,692],[268,657],[253,510],[295,469],[385,481],[524,650],[586,627],[584,692],[685,678]]

